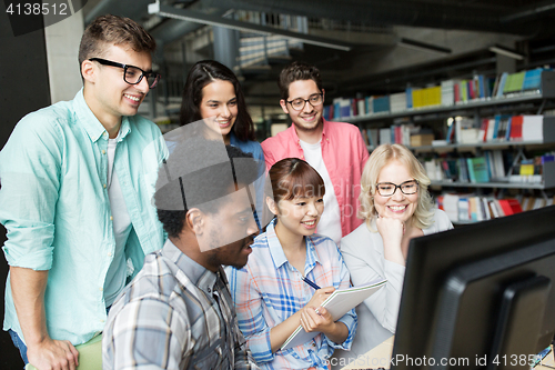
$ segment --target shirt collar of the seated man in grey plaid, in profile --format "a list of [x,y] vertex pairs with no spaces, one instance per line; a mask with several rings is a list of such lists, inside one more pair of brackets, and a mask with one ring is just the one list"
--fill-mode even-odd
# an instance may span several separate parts
[[183,253],[170,239],[165,241],[162,253],[173,261],[186,274],[188,279],[205,293],[213,292],[219,274],[223,278],[221,268],[219,273],[208,270]]

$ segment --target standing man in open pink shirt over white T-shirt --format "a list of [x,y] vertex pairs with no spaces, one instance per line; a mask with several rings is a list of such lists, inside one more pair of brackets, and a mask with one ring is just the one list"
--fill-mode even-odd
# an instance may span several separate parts
[[317,232],[339,244],[362,223],[356,211],[369,151],[359,128],[322,117],[324,89],[316,67],[293,62],[281,71],[278,84],[280,104],[293,124],[262,142],[266,167],[283,158],[301,158],[316,169],[326,189]]

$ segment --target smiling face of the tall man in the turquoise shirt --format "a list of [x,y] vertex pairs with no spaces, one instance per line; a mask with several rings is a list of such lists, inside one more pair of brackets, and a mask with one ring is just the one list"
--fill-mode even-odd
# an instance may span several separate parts
[[[112,44],[99,57],[139,67],[143,71],[152,69],[152,58],[149,52],[137,52]],[[87,60],[83,62],[82,72],[85,79],[85,101],[104,126],[119,123],[122,116],[137,114],[139,106],[150,90],[145,78],[137,84],[127,83],[123,80],[123,69],[119,67],[101,66],[99,62]]]

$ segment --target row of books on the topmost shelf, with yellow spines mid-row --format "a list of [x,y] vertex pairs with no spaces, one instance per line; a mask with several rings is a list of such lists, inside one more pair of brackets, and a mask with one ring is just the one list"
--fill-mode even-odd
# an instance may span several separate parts
[[337,120],[381,112],[396,113],[410,109],[448,107],[473,100],[502,98],[526,91],[537,92],[542,88],[544,70],[536,68],[516,73],[504,72],[496,77],[476,74],[473,79],[452,79],[427,88],[408,87],[405,91],[389,96],[335,98],[331,106],[324,107],[324,118]]

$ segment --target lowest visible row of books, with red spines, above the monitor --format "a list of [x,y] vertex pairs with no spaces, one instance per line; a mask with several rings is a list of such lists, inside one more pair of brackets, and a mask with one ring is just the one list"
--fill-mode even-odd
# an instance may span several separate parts
[[552,206],[553,201],[553,198],[546,197],[496,199],[494,197],[451,193],[436,197],[436,206],[445,211],[451,222],[485,221]]

